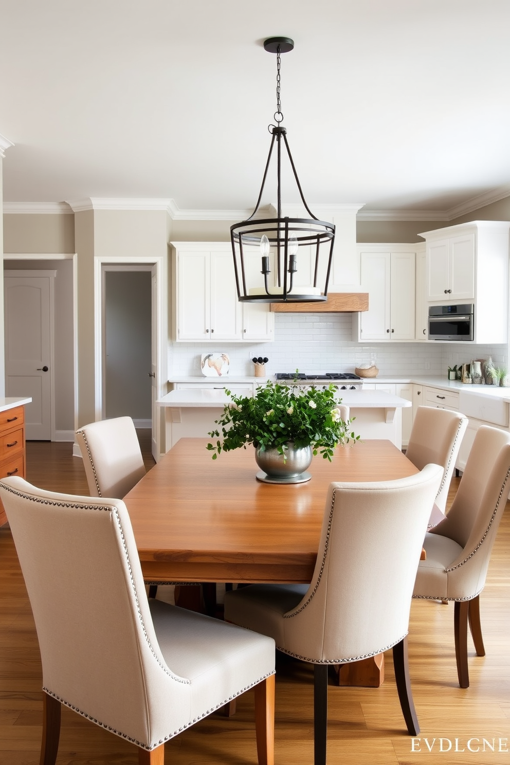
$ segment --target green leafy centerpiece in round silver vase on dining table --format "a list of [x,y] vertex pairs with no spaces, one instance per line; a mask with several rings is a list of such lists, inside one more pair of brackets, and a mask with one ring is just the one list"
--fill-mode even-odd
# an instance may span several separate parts
[[255,396],[234,396],[216,420],[221,428],[210,432],[216,443],[207,444],[216,460],[222,451],[255,447],[262,468],[259,480],[267,483],[303,483],[313,454],[331,461],[333,449],[359,439],[344,422],[336,400],[336,387],[280,385],[267,382]]

